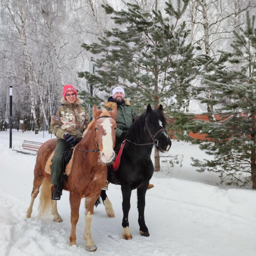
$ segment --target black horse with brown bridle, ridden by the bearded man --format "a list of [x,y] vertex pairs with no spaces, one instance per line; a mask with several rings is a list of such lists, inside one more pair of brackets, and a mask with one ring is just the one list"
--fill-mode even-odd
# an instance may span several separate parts
[[[152,110],[149,104],[146,112],[135,120],[127,132],[120,165],[118,170],[114,172],[115,177],[113,177],[111,172],[108,174],[108,181],[110,183],[121,185],[123,195],[123,239],[126,240],[132,239],[128,214],[131,192],[135,188],[137,188],[138,197],[140,234],[142,236],[149,236],[144,219],[144,209],[146,190],[154,172],[150,155],[153,145],[161,152],[167,152],[171,147],[171,140],[165,129],[167,122],[162,110],[162,105],[157,110]],[[105,190],[102,190],[101,198],[107,215],[114,217],[112,204]]]

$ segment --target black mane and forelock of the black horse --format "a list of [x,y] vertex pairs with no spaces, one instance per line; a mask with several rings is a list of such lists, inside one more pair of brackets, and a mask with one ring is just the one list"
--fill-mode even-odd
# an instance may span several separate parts
[[[151,110],[147,116],[147,123],[154,127],[159,126],[159,120],[162,122],[163,128],[167,125],[164,113],[161,110]],[[126,138],[132,142],[138,142],[139,138],[145,135],[146,112],[142,113],[130,126]]]

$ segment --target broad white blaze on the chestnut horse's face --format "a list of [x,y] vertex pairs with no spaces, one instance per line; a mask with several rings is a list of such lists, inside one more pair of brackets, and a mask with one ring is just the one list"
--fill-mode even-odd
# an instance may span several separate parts
[[102,162],[111,162],[114,158],[114,150],[113,150],[113,140],[112,140],[112,126],[113,124],[110,122],[110,118],[105,118],[101,123],[103,129],[105,130],[106,135],[102,136],[102,152],[101,152],[101,160]]

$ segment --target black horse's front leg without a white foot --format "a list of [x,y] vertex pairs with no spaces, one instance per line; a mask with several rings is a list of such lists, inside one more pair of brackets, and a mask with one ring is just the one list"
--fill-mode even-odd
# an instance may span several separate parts
[[148,184],[144,187],[137,188],[137,198],[138,198],[138,212],[139,212],[139,226],[140,226],[140,235],[149,236],[148,228],[145,224],[144,210],[145,210],[145,196]]

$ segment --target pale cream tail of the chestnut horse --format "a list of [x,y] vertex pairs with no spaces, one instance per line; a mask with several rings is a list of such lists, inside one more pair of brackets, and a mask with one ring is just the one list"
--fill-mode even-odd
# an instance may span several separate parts
[[52,183],[44,179],[40,187],[40,203],[38,207],[38,218],[49,216],[52,210]]

